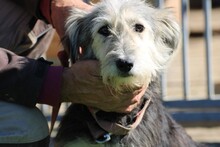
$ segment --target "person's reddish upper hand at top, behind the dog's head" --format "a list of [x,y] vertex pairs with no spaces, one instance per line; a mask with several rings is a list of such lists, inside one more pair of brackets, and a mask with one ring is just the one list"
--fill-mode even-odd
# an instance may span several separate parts
[[51,23],[58,35],[62,38],[65,34],[65,21],[69,16],[71,8],[79,8],[89,11],[92,6],[83,0],[52,0],[51,1]]

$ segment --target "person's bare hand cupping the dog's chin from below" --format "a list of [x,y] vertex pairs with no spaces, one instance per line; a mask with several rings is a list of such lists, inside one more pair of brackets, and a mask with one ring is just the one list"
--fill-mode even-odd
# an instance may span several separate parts
[[98,61],[80,61],[63,72],[61,100],[84,104],[107,112],[131,112],[140,102],[146,88],[116,93],[104,85]]

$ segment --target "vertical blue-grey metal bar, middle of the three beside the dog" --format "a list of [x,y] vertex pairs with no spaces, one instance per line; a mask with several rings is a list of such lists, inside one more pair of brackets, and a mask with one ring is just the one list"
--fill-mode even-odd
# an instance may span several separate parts
[[184,99],[189,97],[189,68],[188,68],[188,0],[182,0],[182,63],[183,63],[183,94]]

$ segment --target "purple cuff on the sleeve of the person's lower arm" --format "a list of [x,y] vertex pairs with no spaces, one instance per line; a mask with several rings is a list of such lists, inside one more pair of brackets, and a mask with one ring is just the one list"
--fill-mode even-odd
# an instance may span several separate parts
[[38,103],[58,106],[62,82],[62,66],[50,66],[39,95]]

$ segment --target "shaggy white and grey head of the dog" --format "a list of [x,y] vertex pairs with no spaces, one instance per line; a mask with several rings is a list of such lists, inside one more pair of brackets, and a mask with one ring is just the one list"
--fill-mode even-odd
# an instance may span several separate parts
[[149,84],[177,48],[180,31],[169,9],[141,0],[104,0],[67,20],[72,61],[96,58],[103,82],[123,91]]

